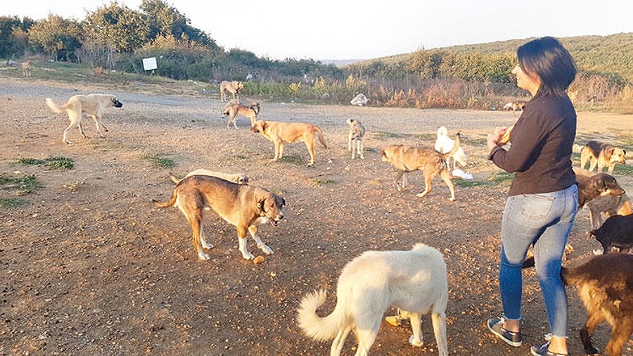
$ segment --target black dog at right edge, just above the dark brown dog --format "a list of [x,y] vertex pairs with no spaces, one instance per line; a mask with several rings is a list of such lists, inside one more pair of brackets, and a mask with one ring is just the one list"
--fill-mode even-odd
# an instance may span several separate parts
[[612,251],[633,253],[633,215],[613,215],[590,234],[602,245],[603,255]]

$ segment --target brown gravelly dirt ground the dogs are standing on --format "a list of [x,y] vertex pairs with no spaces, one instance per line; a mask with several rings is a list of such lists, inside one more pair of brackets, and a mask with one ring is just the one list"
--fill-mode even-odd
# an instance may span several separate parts
[[[485,321],[501,314],[497,272],[501,214],[509,184],[488,178],[500,172],[486,159],[485,134],[511,125],[518,115],[502,111],[416,110],[309,106],[262,101],[262,120],[311,122],[324,130],[328,149],[316,148],[307,167],[303,144],[286,147],[286,158],[270,160],[272,144],[238,119],[226,129],[217,96],[148,94],[128,88],[96,88],[0,80],[0,174],[34,174],[43,188],[17,196],[0,186],[0,198],[27,203],[0,208],[1,355],[326,355],[330,343],[302,336],[295,320],[300,299],[326,288],[321,314],[335,305],[338,274],[365,250],[408,250],[423,242],[442,251],[448,267],[447,333],[453,355],[529,355],[530,345],[548,332],[544,305],[533,272],[524,279],[524,345],[511,348],[491,336]],[[74,129],[71,146],[61,142],[68,125],[51,113],[44,98],[63,103],[74,94],[108,92],[124,106],[109,108],[106,139]],[[251,98],[242,98],[250,102]],[[364,160],[347,151],[347,118],[367,129]],[[457,201],[435,179],[425,198],[421,173],[409,189],[392,185],[395,170],[381,162],[388,144],[433,146],[437,127],[463,134],[472,181],[456,182]],[[633,136],[626,115],[579,113],[577,142],[622,143]],[[71,158],[72,170],[23,165],[19,158]],[[175,167],[157,167],[149,158],[168,158]],[[629,160],[631,153],[629,153]],[[576,156],[577,160],[577,156]],[[577,162],[576,162],[577,165]],[[215,248],[200,261],[191,229],[176,208],[158,209],[174,184],[199,167],[243,172],[250,184],[286,199],[286,218],[263,227],[274,251],[264,263],[243,260],[236,230],[208,215],[206,234]],[[633,177],[618,176],[632,191]],[[588,234],[581,210],[570,236],[568,265],[599,248]],[[261,255],[252,241],[250,250]],[[582,355],[578,331],[586,314],[569,290],[570,351]],[[389,309],[385,314],[392,314]],[[437,355],[430,317],[423,319],[426,343],[413,348],[410,331],[383,322],[373,355]],[[601,324],[595,342],[603,349],[610,330]],[[344,355],[354,353],[347,339]],[[633,355],[633,343],[625,345]]]

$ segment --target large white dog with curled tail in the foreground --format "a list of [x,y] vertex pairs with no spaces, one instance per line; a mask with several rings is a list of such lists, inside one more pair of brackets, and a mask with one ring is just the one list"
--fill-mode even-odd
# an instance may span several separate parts
[[356,333],[356,356],[368,355],[388,307],[407,310],[413,335],[409,343],[421,346],[421,315],[431,313],[440,356],[448,355],[446,305],[448,282],[442,253],[418,243],[409,251],[367,251],[347,263],[338,278],[338,301],[327,317],[316,315],[326,291],[306,295],[297,322],[306,336],[317,341],[334,339],[330,355],[340,355],[350,331]]

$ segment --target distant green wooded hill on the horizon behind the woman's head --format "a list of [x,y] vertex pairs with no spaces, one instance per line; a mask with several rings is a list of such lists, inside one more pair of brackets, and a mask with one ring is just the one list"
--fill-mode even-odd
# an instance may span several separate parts
[[[507,41],[489,42],[484,44],[464,44],[448,46],[428,51],[456,51],[459,53],[515,53],[518,46],[532,38],[510,39]],[[610,34],[608,36],[579,36],[557,37],[570,51],[582,72],[598,73],[601,75],[616,75],[633,82],[633,32]],[[399,54],[382,58],[375,58],[355,63],[364,65],[380,61],[383,63],[407,63],[414,56],[413,53]]]

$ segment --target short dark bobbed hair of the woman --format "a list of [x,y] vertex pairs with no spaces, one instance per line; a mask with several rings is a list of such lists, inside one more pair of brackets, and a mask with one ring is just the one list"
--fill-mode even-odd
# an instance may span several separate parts
[[542,94],[563,96],[576,77],[574,58],[554,37],[533,39],[520,46],[516,56],[524,72],[539,76]]

